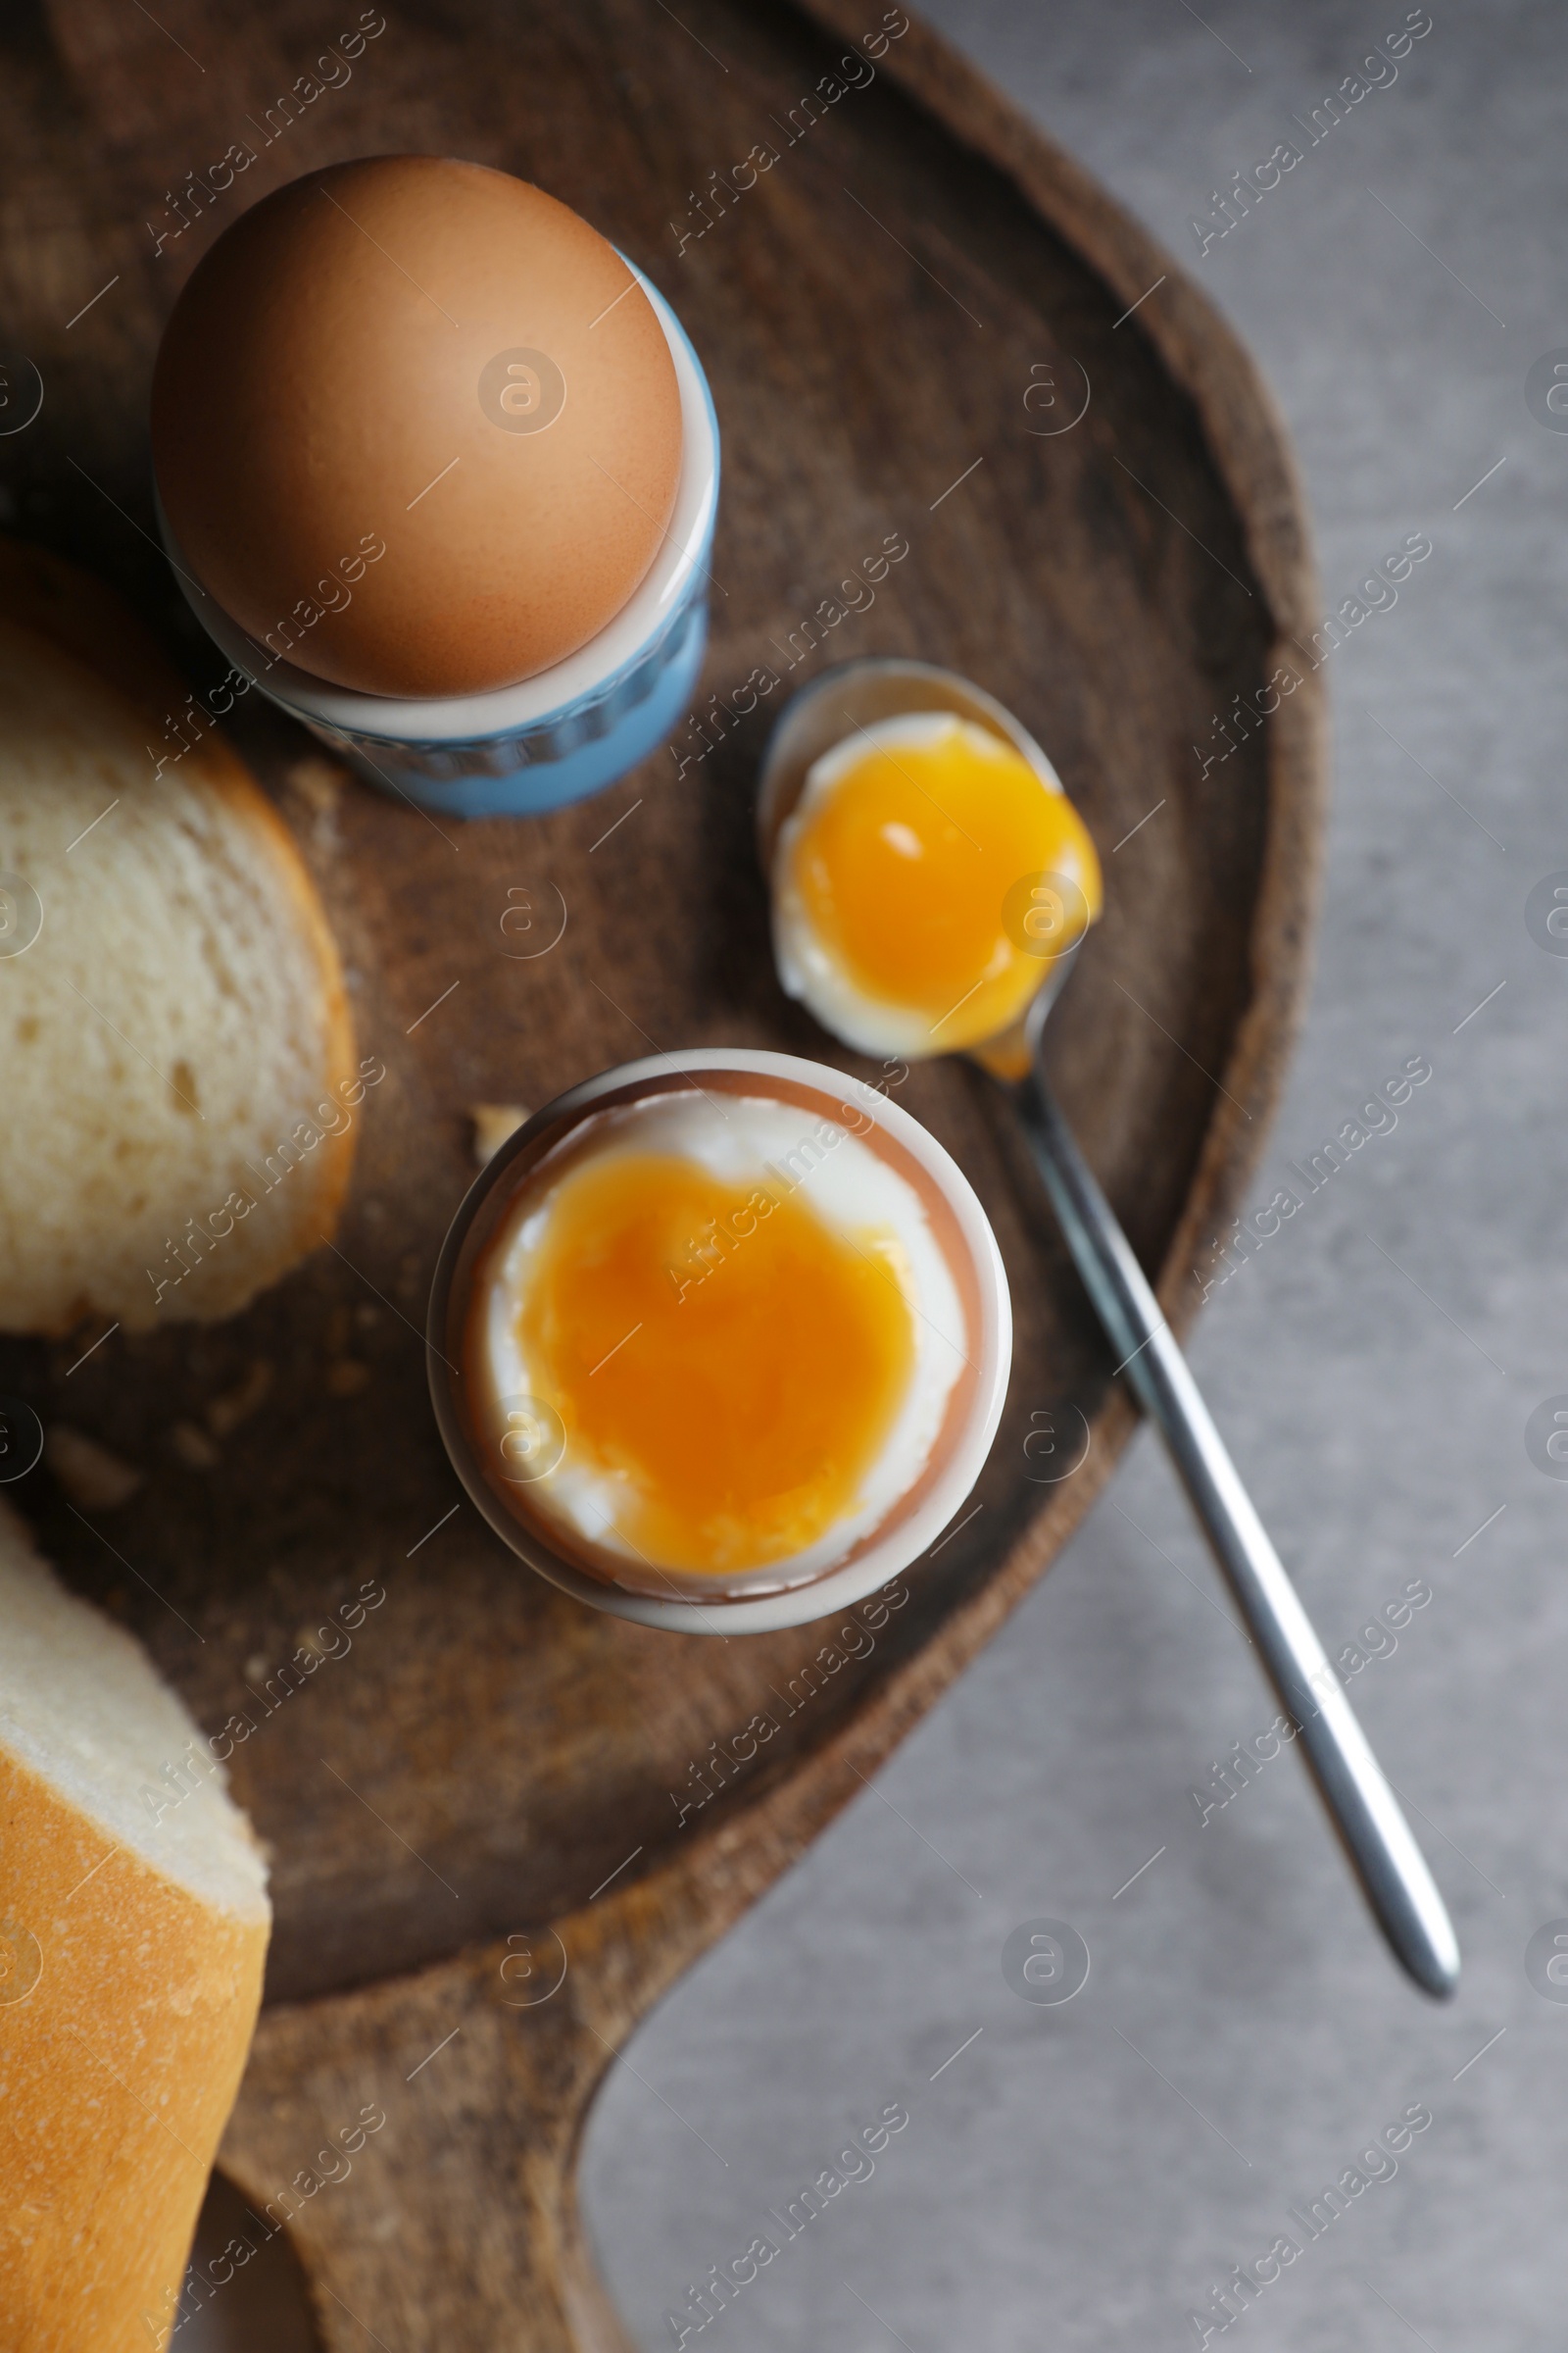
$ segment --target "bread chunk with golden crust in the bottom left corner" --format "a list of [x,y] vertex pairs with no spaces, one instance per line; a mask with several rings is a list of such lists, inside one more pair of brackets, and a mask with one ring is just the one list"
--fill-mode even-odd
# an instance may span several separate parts
[[0,1504],[0,2344],[169,2341],[270,1906],[214,1748]]

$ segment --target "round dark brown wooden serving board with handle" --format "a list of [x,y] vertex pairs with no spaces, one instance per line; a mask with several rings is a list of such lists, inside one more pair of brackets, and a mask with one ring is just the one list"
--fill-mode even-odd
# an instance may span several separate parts
[[[931,33],[893,38],[870,87],[825,82],[884,21],[872,0],[407,0],[287,127],[275,101],[315,71],[320,7],[162,14],[169,35],[122,0],[49,0],[0,35],[5,318],[45,381],[0,480],[16,529],[118,581],[195,682],[221,664],[148,541],[148,374],[197,252],[296,172],[433,148],[541,181],[677,304],[724,431],[717,701],[614,793],[437,828],[329,774],[259,696],[242,706],[353,969],[362,1052],[390,1073],[339,1247],[233,1325],[118,1334],[68,1379],[92,1334],[0,1353],[0,1386],[150,1473],[94,1525],[35,1473],[19,1494],[52,1555],[209,1729],[259,1722],[233,1779],[275,1849],[277,1934],[223,2167],[261,2207],[362,2101],[390,2118],[294,2224],[324,2344],[348,2353],[367,2327],[390,2353],[623,2346],[574,2205],[614,2047],[997,1631],[1110,1475],[1131,1407],[983,1080],[912,1071],[898,1101],[997,1226],[1013,1391],[983,1508],[910,1574],[870,1654],[835,1647],[785,1715],[773,1692],[832,1626],[644,1633],[529,1577],[461,1504],[416,1327],[473,1174],[468,1106],[531,1108],[656,1045],[856,1066],[776,988],[752,774],[788,687],[851,654],[924,654],[1023,718],[1100,842],[1107,915],[1048,1056],[1180,1327],[1305,986],[1314,680],[1227,760],[1194,755],[1316,619],[1302,501],[1222,320]],[[830,87],[813,120],[802,99]],[[235,141],[256,160],[202,209],[186,172]],[[759,144],[778,160],[741,188]],[[731,195],[703,207],[710,172]],[[780,685],[736,715],[757,668]],[[555,946],[508,953],[543,948],[562,904]],[[508,908],[531,913],[527,939]],[[214,1428],[214,1400],[261,1381]],[[1044,1412],[1067,1428],[1070,1407],[1088,1459],[1041,1485],[1030,1431]],[[362,1581],[386,1602],[353,1652],[263,1718],[254,1694]],[[715,1769],[759,1713],[778,1732]],[[693,1767],[717,1793],[682,1814]],[[559,1991],[529,2002],[562,1955]]]

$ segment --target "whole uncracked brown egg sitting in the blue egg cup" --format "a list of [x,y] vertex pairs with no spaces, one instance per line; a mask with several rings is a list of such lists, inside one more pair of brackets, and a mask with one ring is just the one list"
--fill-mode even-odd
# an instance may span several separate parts
[[585,645],[658,553],[679,386],[646,294],[534,188],[376,155],[263,198],[153,374],[153,464],[202,586],[367,694],[475,694]]

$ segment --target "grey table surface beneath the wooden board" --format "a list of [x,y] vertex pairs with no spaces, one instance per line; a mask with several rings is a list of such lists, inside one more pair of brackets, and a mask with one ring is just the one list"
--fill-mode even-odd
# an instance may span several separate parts
[[[1568,939],[1526,901],[1568,868],[1568,431],[1526,376],[1568,360],[1568,19],[1432,0],[1312,146],[1295,118],[1399,0],[926,14],[1237,322],[1326,607],[1432,539],[1333,654],[1319,972],[1258,1200],[1408,1059],[1432,1078],[1213,1289],[1192,1358],[1324,1640],[1366,1659],[1352,1699],[1465,1981],[1436,2007],[1399,1979],[1291,1751],[1204,1819],[1194,1788],[1274,1701],[1143,1433],[990,1652],[611,2071],[592,2238],[637,2346],[670,2346],[689,2287],[783,2240],[769,2209],[900,2104],[870,2177],[689,2346],[1150,2353],[1215,2344],[1227,2280],[1227,2329],[1276,2353],[1547,2344],[1568,1984],[1526,1955],[1568,1937],[1568,1464],[1542,1475],[1526,1426],[1568,1409]],[[1201,252],[1211,191],[1279,141],[1300,165]],[[1361,1640],[1413,1581],[1429,1600]],[[1001,1972],[1039,1918],[1091,1951],[1067,2005]],[[1408,2111],[1429,2122],[1389,2153]],[[219,2304],[181,2341],[242,2327]]]

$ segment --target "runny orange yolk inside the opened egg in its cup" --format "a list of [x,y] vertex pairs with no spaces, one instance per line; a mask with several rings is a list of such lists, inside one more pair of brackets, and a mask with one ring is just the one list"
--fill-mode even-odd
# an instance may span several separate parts
[[630,1551],[755,1569],[853,1511],[917,1353],[891,1233],[651,1151],[585,1160],[545,1217],[520,1351]]

